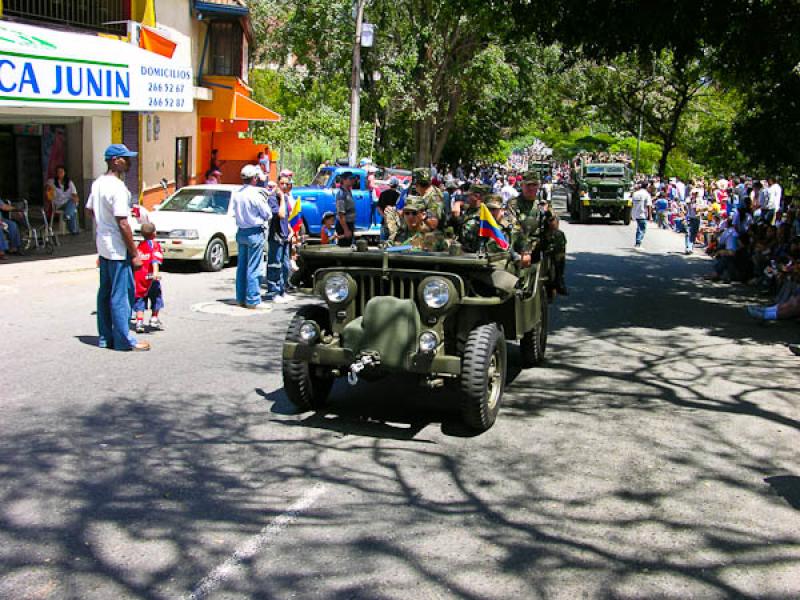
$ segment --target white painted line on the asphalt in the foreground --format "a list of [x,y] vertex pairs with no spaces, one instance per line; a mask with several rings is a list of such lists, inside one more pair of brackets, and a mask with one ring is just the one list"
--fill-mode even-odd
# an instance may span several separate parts
[[241,563],[255,557],[264,549],[271,538],[281,533],[286,527],[297,520],[303,512],[307,511],[317,499],[325,493],[325,486],[321,483],[307,490],[297,502],[292,504],[285,512],[275,517],[253,537],[245,540],[231,557],[216,567],[197,584],[194,591],[186,596],[187,600],[202,600],[214,592],[224,581],[240,574],[243,569]]

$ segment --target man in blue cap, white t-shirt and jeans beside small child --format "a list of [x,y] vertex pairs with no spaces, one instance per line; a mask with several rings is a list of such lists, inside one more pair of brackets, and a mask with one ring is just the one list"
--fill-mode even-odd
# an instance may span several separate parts
[[97,253],[100,255],[100,289],[97,292],[98,345],[114,350],[150,350],[131,334],[133,270],[142,266],[128,217],[131,193],[123,178],[138,153],[124,144],[111,144],[105,151],[108,170],[92,184],[86,210],[95,222]]

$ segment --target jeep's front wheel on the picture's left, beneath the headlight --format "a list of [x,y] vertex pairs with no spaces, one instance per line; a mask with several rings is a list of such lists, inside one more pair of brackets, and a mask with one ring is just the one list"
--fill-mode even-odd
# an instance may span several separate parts
[[[322,331],[330,329],[328,311],[323,306],[304,306],[289,322],[286,341],[300,343],[300,327],[314,321]],[[283,359],[283,389],[289,401],[300,410],[319,410],[325,407],[333,387],[333,375],[321,376],[302,360]]]

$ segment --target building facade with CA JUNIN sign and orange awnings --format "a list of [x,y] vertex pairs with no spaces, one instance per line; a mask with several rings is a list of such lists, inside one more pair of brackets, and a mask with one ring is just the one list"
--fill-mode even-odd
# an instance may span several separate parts
[[[0,197],[44,202],[63,165],[85,199],[103,150],[139,152],[128,187],[143,204],[256,160],[251,28],[240,0],[0,0]],[[167,188],[165,192],[164,188]]]

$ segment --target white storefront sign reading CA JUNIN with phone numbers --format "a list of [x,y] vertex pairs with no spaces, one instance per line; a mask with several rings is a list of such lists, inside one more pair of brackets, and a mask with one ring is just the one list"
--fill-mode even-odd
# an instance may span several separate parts
[[119,40],[0,21],[0,106],[191,112],[191,65]]

